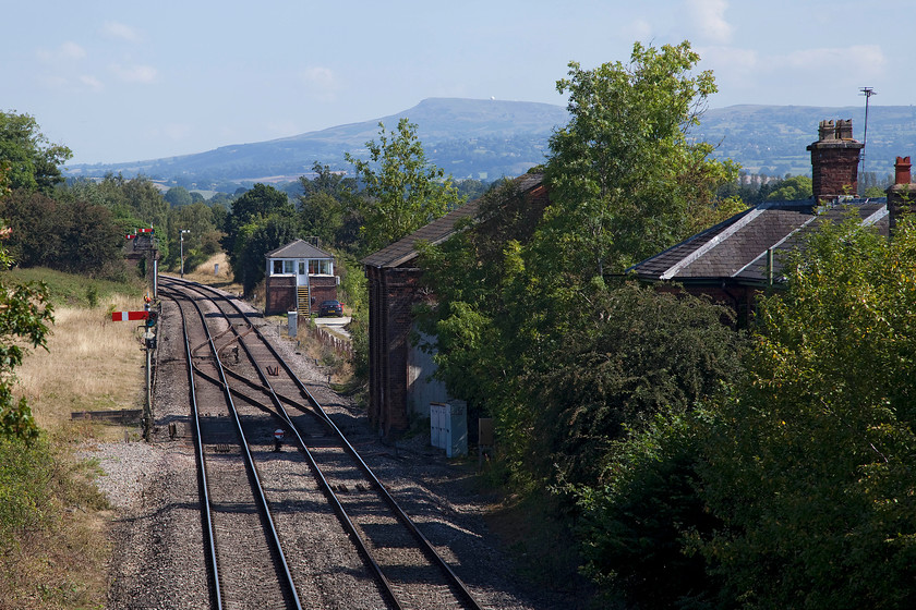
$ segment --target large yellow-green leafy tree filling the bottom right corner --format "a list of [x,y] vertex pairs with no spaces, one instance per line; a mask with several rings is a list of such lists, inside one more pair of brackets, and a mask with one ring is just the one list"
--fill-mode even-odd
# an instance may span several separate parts
[[823,227],[786,272],[709,436],[699,548],[747,608],[912,608],[916,227]]

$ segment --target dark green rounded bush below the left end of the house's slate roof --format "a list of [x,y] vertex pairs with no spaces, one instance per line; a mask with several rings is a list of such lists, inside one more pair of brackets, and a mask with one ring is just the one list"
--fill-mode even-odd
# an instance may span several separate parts
[[537,379],[532,464],[571,484],[599,478],[627,430],[690,411],[742,370],[742,335],[724,306],[626,284],[584,293],[558,338],[552,371]]

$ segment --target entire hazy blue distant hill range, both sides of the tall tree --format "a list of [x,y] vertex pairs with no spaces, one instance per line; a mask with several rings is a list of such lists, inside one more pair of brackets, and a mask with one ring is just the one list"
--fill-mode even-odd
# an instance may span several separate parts
[[[853,119],[854,135],[861,141],[864,114],[864,107],[731,106],[708,110],[702,125],[691,136],[716,145],[718,158],[733,159],[749,173],[810,173],[810,156],[805,147],[817,139],[818,122]],[[401,117],[417,123],[432,162],[456,179],[481,180],[519,175],[542,163],[551,133],[568,121],[562,106],[433,98],[372,121],[181,157],[68,166],[64,173],[143,174],[167,183],[231,192],[239,184],[256,181],[294,181],[309,174],[314,161],[350,169],[343,154],[365,157],[365,143],[377,139],[378,122],[393,130]],[[893,172],[894,157],[916,156],[916,107],[871,106],[866,154],[866,171],[880,176]]]

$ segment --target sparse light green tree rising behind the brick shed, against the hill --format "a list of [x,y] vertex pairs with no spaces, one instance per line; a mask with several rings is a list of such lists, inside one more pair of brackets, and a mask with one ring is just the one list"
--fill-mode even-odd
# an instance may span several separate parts
[[378,123],[378,142],[367,142],[370,161],[349,152],[363,192],[357,209],[363,218],[363,248],[372,252],[409,235],[462,203],[451,178],[426,161],[417,125],[398,121],[395,133]]

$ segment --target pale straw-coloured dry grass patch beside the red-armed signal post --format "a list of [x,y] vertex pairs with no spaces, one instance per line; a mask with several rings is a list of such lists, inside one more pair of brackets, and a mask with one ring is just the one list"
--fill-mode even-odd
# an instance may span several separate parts
[[61,307],[48,349],[34,350],[19,370],[17,390],[39,426],[56,431],[73,411],[140,408],[145,357],[137,322],[112,322],[112,310],[140,309],[116,295],[94,308]]

